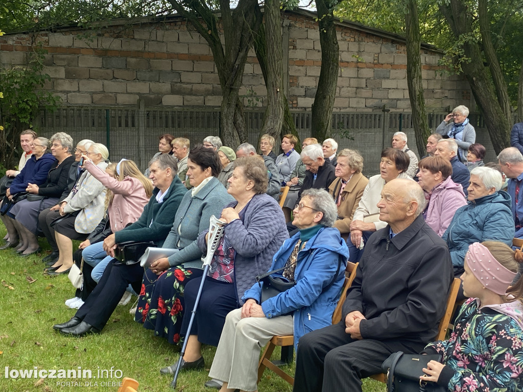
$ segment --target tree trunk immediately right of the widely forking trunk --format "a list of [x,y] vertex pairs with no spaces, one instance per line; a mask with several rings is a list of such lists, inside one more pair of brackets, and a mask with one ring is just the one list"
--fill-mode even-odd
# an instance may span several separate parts
[[[254,37],[254,51],[260,64],[261,74],[263,74],[265,80],[268,97],[264,125],[260,130],[259,136],[261,137],[261,135],[267,133],[278,140],[281,139],[283,135],[290,133],[300,140],[300,136],[298,132],[296,132],[294,119],[289,110],[289,102],[283,92],[281,51],[274,50],[274,48],[281,48],[281,13],[279,4],[279,2],[271,0],[271,3],[265,5],[265,25],[260,26],[258,34]],[[268,9],[269,6],[271,8],[270,10]],[[271,14],[271,16],[268,16],[268,14]],[[273,36],[270,41],[268,38],[270,34],[269,30],[272,30]],[[278,81],[276,81],[277,79]],[[277,91],[277,89],[279,89],[279,91]],[[275,122],[275,118],[278,118],[279,122]],[[295,146],[298,152],[301,151],[300,146],[300,143]]]

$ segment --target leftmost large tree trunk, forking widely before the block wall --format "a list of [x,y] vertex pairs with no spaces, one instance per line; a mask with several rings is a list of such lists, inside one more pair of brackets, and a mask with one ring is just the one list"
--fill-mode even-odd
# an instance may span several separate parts
[[177,0],[169,0],[169,3],[180,15],[187,18],[211,48],[222,89],[222,141],[224,145],[234,149],[241,142],[247,141],[239,91],[253,33],[258,31],[261,24],[257,2],[238,0],[236,8],[231,11],[228,1],[219,0],[224,45],[220,39],[217,16],[205,2],[193,0],[182,4]]

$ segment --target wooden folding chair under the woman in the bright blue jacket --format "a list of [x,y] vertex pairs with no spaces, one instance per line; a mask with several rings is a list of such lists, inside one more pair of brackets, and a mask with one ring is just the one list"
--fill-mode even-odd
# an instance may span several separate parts
[[[354,278],[356,278],[356,269],[358,267],[358,263],[351,263],[350,261],[347,262],[347,268],[346,272],[349,272],[349,277],[345,277],[345,281],[343,282],[342,287],[342,293],[340,294],[338,304],[336,305],[336,309],[334,309],[334,313],[332,316],[332,323],[336,324],[342,319],[342,306],[345,302],[345,298],[347,297],[347,290],[349,289],[350,285],[353,283]],[[278,376],[283,378],[285,381],[287,381],[290,385],[294,385],[294,377],[289,376],[287,373],[283,372],[278,365],[282,365],[284,363],[290,363],[292,362],[292,349],[294,345],[294,337],[292,335],[289,336],[274,336],[271,340],[269,340],[269,343],[267,343],[265,350],[263,354],[261,355],[261,358],[258,362],[258,383],[260,382],[261,376],[265,372],[265,368],[268,367],[271,371],[276,373]],[[272,352],[274,349],[280,346],[282,350],[282,358],[283,358],[283,350],[289,349],[290,351],[290,361],[278,361],[278,362],[271,362],[270,356],[272,355]],[[287,354],[288,358],[288,354]]]

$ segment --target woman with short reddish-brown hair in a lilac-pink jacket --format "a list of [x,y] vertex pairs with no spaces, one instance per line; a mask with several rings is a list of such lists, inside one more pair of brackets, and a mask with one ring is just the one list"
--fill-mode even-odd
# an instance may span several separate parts
[[450,178],[452,165],[447,159],[429,156],[420,160],[418,167],[416,176],[427,200],[423,217],[427,225],[441,237],[456,210],[467,204],[467,199],[461,185]]

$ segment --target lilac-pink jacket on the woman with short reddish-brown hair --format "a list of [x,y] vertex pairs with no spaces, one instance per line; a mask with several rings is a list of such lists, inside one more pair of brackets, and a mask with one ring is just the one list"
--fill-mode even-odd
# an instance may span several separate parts
[[463,187],[453,182],[449,176],[432,190],[425,222],[441,237],[450,225],[456,210],[465,204],[467,199]]

